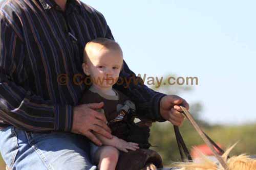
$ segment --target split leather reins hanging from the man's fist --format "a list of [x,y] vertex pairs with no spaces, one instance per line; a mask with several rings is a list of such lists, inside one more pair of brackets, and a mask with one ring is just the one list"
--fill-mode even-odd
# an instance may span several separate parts
[[[198,124],[196,123],[195,119],[193,118],[193,116],[189,113],[189,111],[187,111],[186,108],[181,106],[181,109],[183,110],[183,114],[185,115],[185,117],[189,120],[189,122],[193,125],[193,127],[196,129],[196,131],[199,133],[199,135],[202,137],[202,139],[204,140],[204,142],[206,143],[206,145],[210,148],[210,150],[212,151],[212,153],[214,153],[214,156],[217,158],[217,160],[220,162],[220,164],[222,165],[222,167],[224,169],[227,168],[227,164],[224,162],[224,160],[222,159],[222,157],[218,154],[218,152],[216,150],[219,151],[219,153],[222,155],[224,153],[224,151],[211,139],[209,138],[209,136],[207,136],[204,131],[201,130],[201,128],[198,126]],[[193,159],[191,158],[188,149],[186,147],[186,144],[181,136],[180,130],[178,126],[174,126],[174,131],[175,131],[175,135],[176,135],[176,140],[177,140],[177,144],[178,144],[178,148],[180,151],[180,156],[183,162],[185,161],[193,161]],[[214,147],[216,149],[214,149]]]

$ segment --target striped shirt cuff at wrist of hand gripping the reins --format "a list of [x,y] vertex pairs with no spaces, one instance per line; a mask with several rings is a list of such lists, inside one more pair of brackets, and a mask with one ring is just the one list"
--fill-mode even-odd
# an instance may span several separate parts
[[155,121],[165,122],[166,120],[160,114],[160,101],[166,94],[156,93],[150,101],[150,111],[155,117]]

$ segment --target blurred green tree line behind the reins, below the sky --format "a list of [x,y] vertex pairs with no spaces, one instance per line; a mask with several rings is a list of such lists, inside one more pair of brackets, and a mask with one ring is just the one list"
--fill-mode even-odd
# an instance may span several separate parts
[[[169,76],[175,77],[174,75]],[[164,80],[163,82],[166,81],[167,80]],[[151,86],[151,88],[166,94],[176,95],[193,90],[193,87],[191,86],[170,86],[167,85],[167,82],[165,83],[166,85],[163,84],[164,83],[162,83],[159,88],[156,86]],[[243,153],[248,155],[256,155],[256,124],[242,126],[209,125],[206,120],[202,120],[200,118],[200,114],[203,114],[202,104],[189,103],[189,105],[189,111],[196,119],[196,122],[199,124],[199,126],[210,138],[212,138],[215,142],[220,143],[224,150],[238,141],[237,146],[230,154],[231,156]],[[184,121],[183,125],[180,127],[180,131],[189,150],[193,146],[204,144],[203,140],[196,132],[194,127],[190,125],[188,120]],[[172,162],[181,161],[174,128],[171,123],[167,121],[164,123],[154,123],[151,128],[150,142],[152,145],[157,146],[152,147],[151,149],[160,153],[165,165],[169,165]]]

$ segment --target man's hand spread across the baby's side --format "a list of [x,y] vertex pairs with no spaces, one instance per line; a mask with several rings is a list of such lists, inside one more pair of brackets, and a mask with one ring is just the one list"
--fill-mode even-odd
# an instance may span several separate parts
[[103,102],[101,102],[74,107],[71,132],[84,135],[97,145],[102,145],[102,142],[91,131],[97,132],[109,139],[113,138],[110,128],[106,125],[105,115],[95,111],[102,108],[103,105]]

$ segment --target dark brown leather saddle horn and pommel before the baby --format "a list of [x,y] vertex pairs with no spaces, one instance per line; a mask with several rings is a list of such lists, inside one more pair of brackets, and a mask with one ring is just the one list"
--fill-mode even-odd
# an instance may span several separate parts
[[[156,151],[148,149],[151,147],[151,144],[148,142],[151,125],[152,122],[148,120],[136,124],[126,124],[123,129],[127,131],[121,131],[123,132],[122,134],[116,134],[126,141],[138,143],[140,147],[136,151],[129,151],[127,153],[120,151],[116,170],[141,170],[147,169],[147,166],[151,166],[151,169],[163,167],[161,156]],[[122,128],[120,126],[115,127]],[[115,129],[112,132],[115,133]]]

